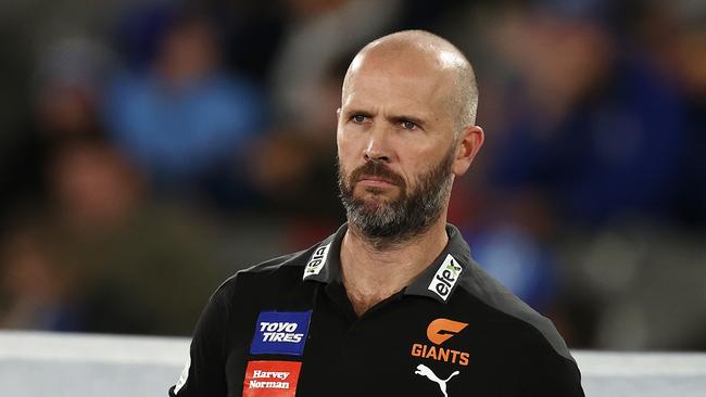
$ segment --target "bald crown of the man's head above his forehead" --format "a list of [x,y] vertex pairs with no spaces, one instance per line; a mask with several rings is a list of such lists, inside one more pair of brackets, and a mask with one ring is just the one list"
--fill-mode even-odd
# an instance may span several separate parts
[[353,59],[343,80],[345,97],[351,79],[361,68],[424,67],[430,79],[439,78],[447,88],[446,102],[456,131],[476,123],[478,88],[470,63],[447,40],[425,30],[404,30],[381,37],[365,46]]

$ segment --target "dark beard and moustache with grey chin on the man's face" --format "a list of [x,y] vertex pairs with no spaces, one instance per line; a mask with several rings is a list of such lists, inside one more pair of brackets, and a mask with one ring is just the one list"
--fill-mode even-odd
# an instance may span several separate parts
[[[383,163],[370,161],[353,171],[348,180],[339,164],[338,185],[349,225],[377,249],[400,245],[424,234],[439,220],[449,202],[453,155],[454,151],[450,150],[437,167],[419,177],[416,189],[409,192],[404,180]],[[376,203],[355,197],[353,189],[362,174],[394,180],[400,188],[399,197]],[[375,194],[376,189],[368,188],[368,192]]]

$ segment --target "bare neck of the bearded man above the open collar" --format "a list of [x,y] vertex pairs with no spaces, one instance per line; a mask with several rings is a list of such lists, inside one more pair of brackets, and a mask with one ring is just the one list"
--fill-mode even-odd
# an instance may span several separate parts
[[349,226],[341,243],[341,276],[355,312],[361,316],[409,285],[446,246],[445,226],[440,217],[423,234],[382,249]]

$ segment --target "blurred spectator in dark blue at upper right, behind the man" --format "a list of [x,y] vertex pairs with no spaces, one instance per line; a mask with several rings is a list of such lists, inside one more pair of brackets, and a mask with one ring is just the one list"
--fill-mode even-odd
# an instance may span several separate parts
[[[594,18],[513,15],[493,36],[516,81],[493,182],[508,196],[541,189],[571,225],[673,217],[684,114],[677,92]],[[560,56],[556,56],[560,54]]]

